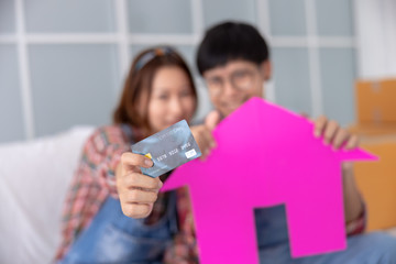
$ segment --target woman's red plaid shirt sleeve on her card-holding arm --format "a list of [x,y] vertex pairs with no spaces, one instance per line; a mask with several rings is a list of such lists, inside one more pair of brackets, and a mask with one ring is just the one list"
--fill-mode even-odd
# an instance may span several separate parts
[[[98,213],[105,200],[118,198],[116,167],[124,152],[131,151],[131,142],[141,138],[133,130],[135,139],[129,138],[121,125],[96,130],[87,140],[72,186],[66,196],[63,211],[62,243],[55,258],[62,260],[78,234],[85,230]],[[158,194],[147,223],[156,222],[166,211],[167,195]]]

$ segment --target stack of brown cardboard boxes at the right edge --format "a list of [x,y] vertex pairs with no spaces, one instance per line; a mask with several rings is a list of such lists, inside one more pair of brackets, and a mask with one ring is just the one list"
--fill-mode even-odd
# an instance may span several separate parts
[[396,79],[355,82],[361,147],[378,162],[355,163],[355,179],[367,206],[367,230],[396,227]]

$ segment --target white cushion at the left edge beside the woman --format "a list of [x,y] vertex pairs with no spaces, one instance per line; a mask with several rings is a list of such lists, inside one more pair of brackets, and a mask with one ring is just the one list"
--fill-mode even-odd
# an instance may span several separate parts
[[91,127],[0,145],[0,263],[50,263],[66,191]]

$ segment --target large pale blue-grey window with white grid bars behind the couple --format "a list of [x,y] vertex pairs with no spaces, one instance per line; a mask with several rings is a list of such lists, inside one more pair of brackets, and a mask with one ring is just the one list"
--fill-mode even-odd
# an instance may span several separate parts
[[132,57],[157,44],[175,46],[190,64],[201,119],[211,105],[195,69],[196,47],[205,29],[223,20],[252,23],[267,38],[267,99],[350,123],[351,1],[1,0],[0,142],[109,123]]

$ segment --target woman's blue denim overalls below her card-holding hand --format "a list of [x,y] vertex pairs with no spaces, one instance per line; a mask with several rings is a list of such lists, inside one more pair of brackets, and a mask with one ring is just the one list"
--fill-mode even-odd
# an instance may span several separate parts
[[151,226],[125,217],[120,201],[109,197],[58,264],[160,264],[176,232],[175,193],[170,194],[166,215]]

